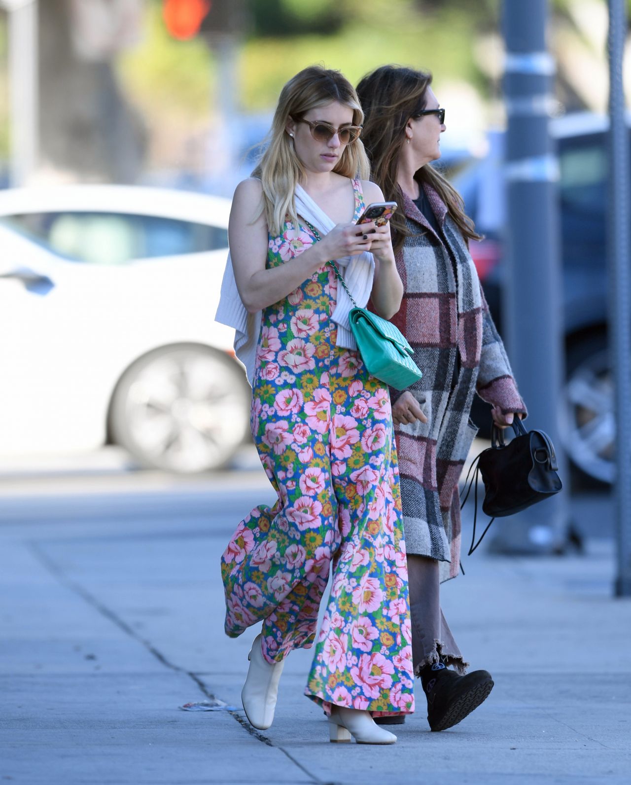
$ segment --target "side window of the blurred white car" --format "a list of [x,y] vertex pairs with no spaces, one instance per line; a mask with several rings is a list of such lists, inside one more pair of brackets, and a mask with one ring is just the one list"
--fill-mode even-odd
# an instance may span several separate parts
[[2,220],[60,256],[93,265],[125,265],[228,247],[228,230],[173,218],[66,212]]

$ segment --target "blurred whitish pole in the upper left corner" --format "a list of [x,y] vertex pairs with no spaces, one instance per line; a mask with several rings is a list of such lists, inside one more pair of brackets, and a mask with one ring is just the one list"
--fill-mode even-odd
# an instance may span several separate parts
[[9,12],[11,184],[24,185],[38,157],[37,0],[5,0]]

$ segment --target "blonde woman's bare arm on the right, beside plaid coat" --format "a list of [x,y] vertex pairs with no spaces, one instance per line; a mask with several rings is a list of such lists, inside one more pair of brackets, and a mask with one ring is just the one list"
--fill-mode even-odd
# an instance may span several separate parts
[[[378,184],[364,180],[362,188],[367,205],[371,202],[384,201],[384,195]],[[370,300],[379,316],[392,319],[401,307],[403,283],[396,270],[389,221],[385,226],[378,226],[371,232],[368,236],[372,240],[370,253],[374,256],[374,282]]]

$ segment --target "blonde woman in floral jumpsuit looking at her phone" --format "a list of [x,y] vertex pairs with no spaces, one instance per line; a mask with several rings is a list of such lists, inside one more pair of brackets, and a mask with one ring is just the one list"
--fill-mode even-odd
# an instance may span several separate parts
[[278,501],[239,524],[221,568],[226,633],[263,622],[243,687],[252,725],[272,724],[286,656],[312,646],[332,565],[305,694],[329,715],[331,741],[387,744],[396,736],[370,713],[414,710],[392,415],[328,264],[359,305],[372,298],[386,318],[399,309],[388,226],[354,222],[382,199],[366,179],[362,120],[341,73],[306,68],[283,87],[261,164],[235,192],[218,318],[237,330]]

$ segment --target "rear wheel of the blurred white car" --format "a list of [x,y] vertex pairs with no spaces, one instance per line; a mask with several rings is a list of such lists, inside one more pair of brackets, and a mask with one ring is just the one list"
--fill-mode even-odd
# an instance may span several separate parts
[[177,473],[218,469],[250,424],[250,386],[239,364],[202,345],[174,345],[140,357],[122,375],[110,432],[143,466]]

